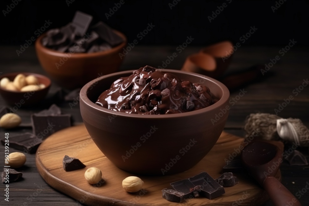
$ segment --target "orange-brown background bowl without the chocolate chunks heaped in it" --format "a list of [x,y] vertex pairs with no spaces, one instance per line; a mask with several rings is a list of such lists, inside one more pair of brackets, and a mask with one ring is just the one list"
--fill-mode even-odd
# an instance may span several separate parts
[[[115,30],[114,30],[115,31]],[[127,44],[127,38],[115,31],[124,40],[118,46],[94,53],[63,53],[44,47],[42,34],[35,43],[36,55],[43,69],[60,86],[74,89],[84,86],[99,76],[116,72],[124,58],[119,53]]]

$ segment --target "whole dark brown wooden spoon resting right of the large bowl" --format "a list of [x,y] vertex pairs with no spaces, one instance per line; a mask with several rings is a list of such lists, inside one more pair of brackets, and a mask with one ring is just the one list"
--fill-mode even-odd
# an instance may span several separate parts
[[301,206],[297,198],[274,177],[283,161],[277,146],[268,142],[252,142],[243,149],[241,160],[276,206]]

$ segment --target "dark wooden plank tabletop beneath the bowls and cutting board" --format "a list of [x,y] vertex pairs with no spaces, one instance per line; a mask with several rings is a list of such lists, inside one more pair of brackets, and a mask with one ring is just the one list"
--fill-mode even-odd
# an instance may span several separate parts
[[[167,56],[171,56],[176,51],[177,46],[135,46],[126,55],[121,70],[138,69],[144,65],[154,67],[162,66],[162,61],[166,61]],[[18,46],[0,47],[0,74],[8,72],[27,71],[46,74],[41,68],[33,47],[19,57],[15,50]],[[185,58],[201,47],[188,47],[180,53],[167,68],[180,69]],[[309,49],[304,47],[292,47],[284,56],[279,54],[282,47],[240,47],[233,56],[229,71],[248,68],[252,65],[265,65],[280,55],[280,60],[260,78],[260,81],[243,86],[247,91],[237,102],[231,104],[230,114],[226,122],[224,131],[233,133],[240,137],[244,136],[243,126],[246,116],[250,113],[266,112],[274,114],[274,109],[278,109],[278,104],[290,95],[294,99],[280,112],[278,116],[283,118],[299,118],[309,127],[309,86],[298,93],[296,96],[293,90],[300,86],[309,76]],[[1,75],[0,75],[1,78]],[[73,80],[72,80],[73,81]],[[53,83],[49,90],[48,97],[53,96],[59,86]],[[237,96],[239,90],[231,92],[231,98]],[[70,108],[69,102],[57,103],[61,107],[62,113],[71,114],[73,124],[81,124],[79,104]],[[0,97],[0,107],[7,105]],[[0,128],[0,138],[4,137],[5,132],[10,132],[10,136],[20,132],[32,132],[30,114],[48,108],[49,105],[23,109],[16,111],[22,117],[20,127],[5,130]],[[11,107],[11,106],[9,106]],[[309,161],[308,148],[300,148]],[[18,151],[10,148],[10,152]],[[0,146],[0,154],[4,157],[4,146]],[[64,195],[50,187],[39,175],[35,165],[35,155],[26,154],[27,162],[19,169],[23,172],[23,180],[10,183],[10,201],[5,201],[5,184],[0,184],[0,205],[80,205],[76,200]],[[2,162],[4,166],[4,162]],[[309,166],[290,166],[288,162],[281,165],[282,183],[285,185],[303,205],[309,205],[309,190],[306,189],[306,182],[309,182]],[[299,192],[300,191],[300,192]],[[307,192],[304,192],[307,191]],[[264,205],[273,205],[269,200]]]

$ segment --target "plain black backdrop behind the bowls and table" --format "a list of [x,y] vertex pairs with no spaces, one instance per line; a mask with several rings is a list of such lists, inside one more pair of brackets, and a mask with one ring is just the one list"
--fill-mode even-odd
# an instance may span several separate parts
[[[1,1],[0,44],[24,44],[31,36],[35,36],[34,32],[44,25],[45,20],[52,22],[48,29],[61,27],[72,20],[76,10],[93,15],[92,23],[102,20],[125,33],[128,42],[137,39],[138,33],[146,29],[148,23],[153,23],[155,27],[138,41],[139,45],[179,45],[187,36],[194,38],[191,45],[196,46],[221,40],[231,40],[235,44],[249,32],[251,26],[258,30],[245,43],[240,42],[242,45],[287,45],[290,39],[297,41],[298,46],[309,44],[308,1],[281,0],[280,3],[283,4],[273,12],[271,6],[276,5],[275,0],[181,0],[172,9],[168,4],[172,0],[124,0],[125,3],[107,19],[105,13],[119,1],[75,0],[68,6],[67,2],[70,0],[21,0],[6,16],[3,15],[3,10],[7,10],[7,5],[12,4],[12,0]],[[208,16],[224,2],[227,6],[210,23]]]

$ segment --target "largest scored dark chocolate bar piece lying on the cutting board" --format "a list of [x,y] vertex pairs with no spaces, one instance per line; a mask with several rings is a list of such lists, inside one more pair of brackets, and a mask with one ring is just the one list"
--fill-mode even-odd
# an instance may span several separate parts
[[225,193],[224,188],[219,185],[207,172],[201,172],[189,178],[194,186],[201,185],[200,194],[208,199],[214,199]]

